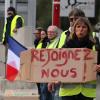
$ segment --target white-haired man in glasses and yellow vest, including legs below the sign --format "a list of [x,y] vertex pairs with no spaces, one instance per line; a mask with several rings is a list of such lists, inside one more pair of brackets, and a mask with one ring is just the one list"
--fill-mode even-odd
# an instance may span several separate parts
[[[58,48],[58,42],[59,42],[59,29],[57,26],[51,25],[47,29],[49,44],[47,45],[47,49],[54,49]],[[49,98],[49,100],[61,100],[59,97],[59,87],[60,84],[57,83],[56,85],[54,83],[48,83],[48,90],[52,94],[52,98]]]

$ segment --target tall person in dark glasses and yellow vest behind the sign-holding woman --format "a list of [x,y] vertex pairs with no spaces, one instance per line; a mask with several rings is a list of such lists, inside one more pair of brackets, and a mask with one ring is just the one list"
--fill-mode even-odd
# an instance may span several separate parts
[[71,12],[68,15],[68,19],[69,19],[69,23],[70,23],[69,29],[61,33],[58,48],[62,48],[62,46],[64,45],[66,39],[70,35],[70,32],[72,31],[72,27],[73,27],[75,21],[79,17],[85,17],[85,13],[82,10],[78,9],[78,8],[72,9]]

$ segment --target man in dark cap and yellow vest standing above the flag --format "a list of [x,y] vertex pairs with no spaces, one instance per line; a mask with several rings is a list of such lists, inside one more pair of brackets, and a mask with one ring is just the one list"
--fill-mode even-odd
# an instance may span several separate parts
[[6,44],[7,35],[14,36],[14,33],[17,32],[17,29],[23,27],[24,19],[22,16],[17,15],[17,12],[14,7],[9,7],[7,9],[7,20],[3,29],[3,38],[2,42]]

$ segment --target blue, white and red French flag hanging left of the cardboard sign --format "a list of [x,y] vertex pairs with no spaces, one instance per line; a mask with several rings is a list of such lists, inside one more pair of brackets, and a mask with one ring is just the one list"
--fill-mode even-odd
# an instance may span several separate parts
[[6,64],[6,79],[14,81],[20,70],[20,53],[27,50],[14,38],[7,36],[8,55]]

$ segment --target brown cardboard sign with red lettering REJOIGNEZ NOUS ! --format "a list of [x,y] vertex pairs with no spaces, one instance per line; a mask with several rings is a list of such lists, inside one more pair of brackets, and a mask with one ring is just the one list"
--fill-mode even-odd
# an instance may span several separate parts
[[87,48],[31,49],[21,53],[17,79],[80,83],[96,79],[97,53]]

